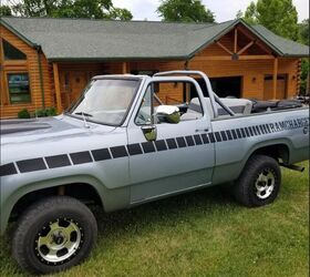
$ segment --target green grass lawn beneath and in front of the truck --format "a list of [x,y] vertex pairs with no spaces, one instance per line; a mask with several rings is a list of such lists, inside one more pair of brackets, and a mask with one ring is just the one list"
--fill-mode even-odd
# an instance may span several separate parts
[[[214,187],[110,215],[96,248],[55,276],[309,276],[309,163],[276,202],[246,208]],[[0,276],[27,276],[1,238]]]

